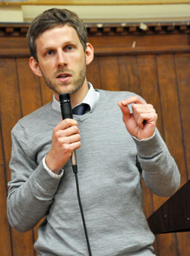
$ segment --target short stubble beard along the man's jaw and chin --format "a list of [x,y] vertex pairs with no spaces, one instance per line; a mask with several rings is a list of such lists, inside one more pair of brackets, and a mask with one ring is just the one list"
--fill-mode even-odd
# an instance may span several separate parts
[[[53,84],[49,78],[46,77],[46,75],[43,73],[43,79],[46,83],[46,85],[54,91],[56,94],[61,94],[61,93],[68,93],[68,94],[74,94],[76,91],[78,91],[81,86],[84,84],[84,80],[86,78],[86,65],[84,64],[83,68],[81,71],[78,73],[78,77],[74,78],[74,81],[72,82],[72,85],[67,85],[67,82],[62,82],[61,88],[60,86],[57,86],[56,84]],[[65,71],[60,71],[60,72],[65,72]],[[72,76],[73,78],[73,76]],[[65,86],[64,86],[65,85]]]

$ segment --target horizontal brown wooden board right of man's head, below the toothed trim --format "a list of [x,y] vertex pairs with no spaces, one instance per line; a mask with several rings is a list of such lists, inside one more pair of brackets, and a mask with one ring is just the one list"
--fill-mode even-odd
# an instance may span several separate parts
[[[134,27],[132,27],[134,28]],[[179,34],[176,31],[172,34],[151,33],[147,31],[139,33],[139,30],[134,32],[128,31],[121,34],[94,33],[90,35],[89,42],[95,47],[97,56],[119,56],[119,55],[134,55],[134,54],[155,54],[155,53],[182,53],[188,52],[188,33]]]

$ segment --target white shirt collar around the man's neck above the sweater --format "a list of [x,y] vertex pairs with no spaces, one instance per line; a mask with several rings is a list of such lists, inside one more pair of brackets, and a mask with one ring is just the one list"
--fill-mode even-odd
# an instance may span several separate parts
[[[89,90],[87,91],[87,95],[84,97],[84,99],[83,99],[83,101],[81,101],[81,103],[88,104],[90,106],[90,111],[91,111],[91,110],[93,110],[93,108],[95,107],[95,105],[99,99],[100,92],[95,90],[93,88],[93,85],[90,82],[87,82],[87,84],[89,86]],[[80,105],[80,104],[78,104],[78,105]],[[74,106],[74,107],[77,107],[77,106]],[[54,94],[53,94],[53,98],[52,98],[52,109],[61,112],[60,102],[57,101]]]

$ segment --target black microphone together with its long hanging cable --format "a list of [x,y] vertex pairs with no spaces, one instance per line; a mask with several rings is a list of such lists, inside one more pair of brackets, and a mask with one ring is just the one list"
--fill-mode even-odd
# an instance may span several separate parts
[[[73,115],[72,115],[72,109],[71,109],[70,94],[59,94],[59,101],[61,104],[62,119],[63,120],[65,118],[72,119]],[[79,204],[79,208],[81,211],[81,218],[82,218],[83,227],[84,227],[84,234],[85,234],[85,238],[86,238],[86,242],[87,242],[87,250],[88,250],[89,256],[92,256],[90,242],[89,242],[89,238],[88,238],[88,234],[87,234],[87,226],[86,226],[86,222],[84,219],[83,206],[81,203],[81,196],[80,196],[80,190],[79,190],[79,184],[78,184],[78,165],[77,165],[77,158],[76,158],[75,150],[72,152],[72,155],[71,155],[71,165],[72,165],[72,169],[74,172],[74,177],[75,177],[75,182],[76,182],[76,187],[77,187],[78,204]]]

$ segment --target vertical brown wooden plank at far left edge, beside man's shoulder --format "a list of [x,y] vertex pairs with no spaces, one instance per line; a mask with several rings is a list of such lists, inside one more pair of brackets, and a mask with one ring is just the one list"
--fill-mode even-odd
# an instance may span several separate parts
[[[17,123],[17,120],[21,118],[17,69],[14,59],[0,59],[0,77],[2,136],[4,139],[5,161],[8,164],[11,157],[11,129]],[[10,180],[9,172],[8,180]]]

